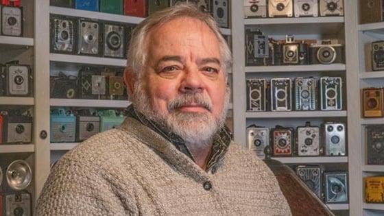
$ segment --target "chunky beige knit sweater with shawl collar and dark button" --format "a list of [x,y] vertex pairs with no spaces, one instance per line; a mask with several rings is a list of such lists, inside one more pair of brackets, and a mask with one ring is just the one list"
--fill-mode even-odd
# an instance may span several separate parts
[[132,118],[77,145],[53,166],[37,215],[291,215],[278,182],[231,143],[206,172]]

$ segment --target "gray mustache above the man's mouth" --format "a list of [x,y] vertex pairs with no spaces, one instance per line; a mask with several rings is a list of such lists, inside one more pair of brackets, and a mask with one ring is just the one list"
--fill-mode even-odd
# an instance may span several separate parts
[[175,110],[182,106],[195,104],[197,106],[202,106],[207,110],[212,110],[212,101],[209,97],[203,93],[194,93],[194,94],[182,94],[169,102],[168,110]]

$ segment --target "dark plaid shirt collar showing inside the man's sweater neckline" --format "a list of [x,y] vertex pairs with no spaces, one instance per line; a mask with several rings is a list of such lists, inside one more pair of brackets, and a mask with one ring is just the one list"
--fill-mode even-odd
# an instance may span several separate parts
[[[165,139],[167,139],[169,142],[173,143],[173,145],[175,145],[175,147],[179,149],[180,152],[186,154],[189,158],[191,158],[191,160],[195,161],[191,151],[189,150],[189,147],[180,136],[167,130],[167,128],[163,127],[162,125],[147,119],[143,114],[137,112],[132,105],[128,106],[125,112],[128,117],[132,117],[143,123],[143,125],[146,125],[148,128],[151,128]],[[224,159],[224,156],[228,151],[231,137],[232,134],[226,126],[221,128],[221,130],[215,134],[212,143],[211,155],[208,158],[208,163],[206,166],[206,171],[212,171],[215,173],[217,168],[219,168],[221,161]]]

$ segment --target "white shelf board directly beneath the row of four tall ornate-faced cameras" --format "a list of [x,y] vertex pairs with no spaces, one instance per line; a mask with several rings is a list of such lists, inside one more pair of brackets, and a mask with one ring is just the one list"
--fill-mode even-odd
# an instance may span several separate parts
[[291,112],[245,112],[246,118],[275,119],[275,118],[311,118],[311,117],[346,117],[347,111],[291,111]]

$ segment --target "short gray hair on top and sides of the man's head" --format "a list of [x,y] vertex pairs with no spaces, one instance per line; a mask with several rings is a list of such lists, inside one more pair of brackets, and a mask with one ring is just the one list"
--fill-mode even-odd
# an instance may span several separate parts
[[191,17],[197,19],[208,25],[219,40],[219,49],[221,59],[223,60],[223,69],[225,75],[228,71],[232,70],[232,53],[226,43],[226,40],[221,35],[220,29],[212,16],[206,12],[201,12],[197,7],[191,3],[180,3],[171,8],[160,10],[148,16],[144,21],[139,23],[132,31],[130,43],[127,53],[127,67],[137,81],[143,75],[143,67],[145,65],[147,49],[145,47],[145,38],[149,31],[154,27],[163,25],[173,19],[180,17]]

